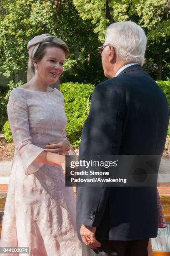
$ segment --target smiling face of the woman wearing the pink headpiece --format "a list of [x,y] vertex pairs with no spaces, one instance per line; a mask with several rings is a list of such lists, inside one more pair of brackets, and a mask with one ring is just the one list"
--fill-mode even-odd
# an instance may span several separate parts
[[65,52],[59,47],[47,47],[43,58],[35,64],[36,75],[43,83],[53,84],[63,72]]

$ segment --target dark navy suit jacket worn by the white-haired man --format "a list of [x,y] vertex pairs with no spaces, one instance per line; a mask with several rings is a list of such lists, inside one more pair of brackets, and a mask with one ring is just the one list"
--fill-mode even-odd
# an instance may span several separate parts
[[[80,155],[161,155],[169,107],[158,84],[140,65],[98,84],[85,121]],[[155,163],[159,166],[159,163]],[[77,233],[96,226],[99,240],[157,236],[156,187],[77,187]]]

